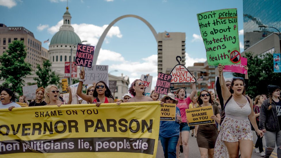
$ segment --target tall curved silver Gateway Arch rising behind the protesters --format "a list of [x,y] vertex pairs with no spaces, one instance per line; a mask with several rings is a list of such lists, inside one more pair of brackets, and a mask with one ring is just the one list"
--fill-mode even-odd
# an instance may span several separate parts
[[155,37],[155,40],[157,42],[157,33],[155,31],[155,29],[152,27],[151,24],[149,24],[148,21],[146,21],[144,18],[140,17],[140,16],[137,16],[137,15],[123,15],[123,16],[120,16],[119,18],[116,18],[115,20],[113,20],[108,26],[107,28],[105,29],[105,31],[103,31],[102,35],[100,36],[100,39],[98,40],[98,43],[96,45],[96,50],[94,52],[94,59],[93,59],[93,65],[96,64],[96,61],[98,59],[98,54],[100,52],[100,48],[101,48],[101,45],[103,43],[103,41],[105,40],[105,37],[108,33],[108,31],[110,30],[110,28],[119,20],[123,19],[123,18],[128,18],[128,17],[131,17],[131,18],[137,18],[139,20],[141,20],[142,22],[144,22],[150,29],[150,31],[152,32],[153,36]]

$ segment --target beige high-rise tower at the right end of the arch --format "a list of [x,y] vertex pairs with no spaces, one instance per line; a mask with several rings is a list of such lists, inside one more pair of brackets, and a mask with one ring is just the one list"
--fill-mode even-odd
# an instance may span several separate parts
[[182,58],[185,65],[185,33],[163,32],[158,33],[158,73],[170,74],[178,64],[176,56]]

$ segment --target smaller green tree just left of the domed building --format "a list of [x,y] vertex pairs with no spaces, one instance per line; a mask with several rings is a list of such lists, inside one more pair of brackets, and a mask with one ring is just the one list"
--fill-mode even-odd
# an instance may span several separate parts
[[34,80],[37,81],[38,87],[47,87],[50,84],[58,85],[60,78],[51,70],[52,64],[49,60],[43,62],[42,68],[37,64],[37,71]]

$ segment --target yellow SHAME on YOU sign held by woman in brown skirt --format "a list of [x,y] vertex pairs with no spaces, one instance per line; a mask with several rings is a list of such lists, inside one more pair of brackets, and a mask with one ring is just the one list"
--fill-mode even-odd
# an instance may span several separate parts
[[215,123],[211,116],[214,115],[212,106],[185,109],[186,118],[189,126],[206,125]]

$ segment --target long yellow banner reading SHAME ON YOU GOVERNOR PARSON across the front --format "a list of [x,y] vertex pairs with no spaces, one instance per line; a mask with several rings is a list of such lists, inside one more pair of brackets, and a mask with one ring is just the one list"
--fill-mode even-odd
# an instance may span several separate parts
[[159,102],[0,109],[0,157],[155,158]]

